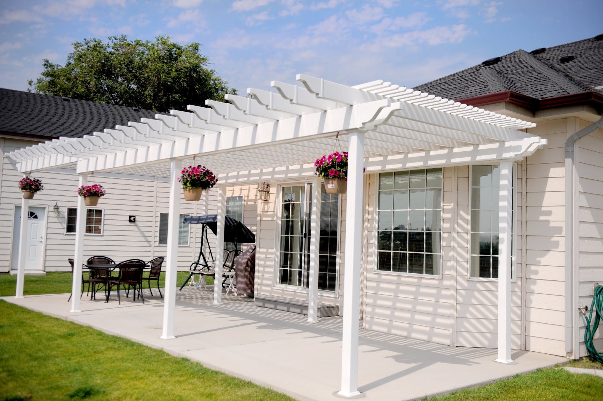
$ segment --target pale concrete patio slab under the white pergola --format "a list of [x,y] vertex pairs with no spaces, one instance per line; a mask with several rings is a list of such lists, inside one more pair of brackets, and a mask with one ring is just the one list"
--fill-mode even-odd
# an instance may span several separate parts
[[[175,335],[161,340],[163,300],[145,293],[104,303],[81,302],[70,313],[69,294],[2,297],[7,302],[92,326],[103,332],[184,356],[273,388],[298,400],[341,400],[341,317],[307,317],[259,308],[253,300],[223,295],[213,306],[213,288],[177,291]],[[362,399],[401,401],[448,393],[566,361],[560,356],[515,351],[514,363],[494,362],[495,349],[449,347],[428,341],[361,330],[359,390]]]

